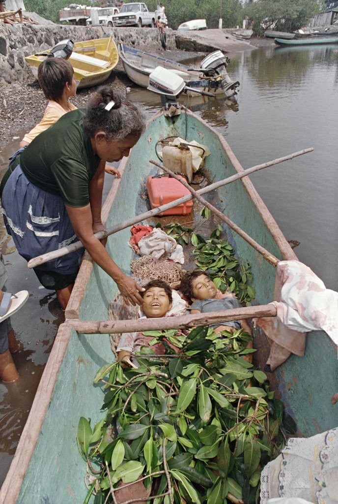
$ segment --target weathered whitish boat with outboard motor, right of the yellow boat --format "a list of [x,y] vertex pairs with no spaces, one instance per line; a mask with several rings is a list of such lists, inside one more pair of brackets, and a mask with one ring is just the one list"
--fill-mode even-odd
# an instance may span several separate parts
[[[118,45],[118,51],[124,70],[129,79],[143,88],[148,87],[149,75],[151,72],[156,67],[160,66],[171,70],[179,77],[182,77],[186,84],[191,88],[209,91],[214,94],[225,94],[227,97],[237,93],[236,88],[239,86],[239,82],[232,83],[230,81],[224,65],[220,67],[220,74],[216,72],[214,76],[207,76],[205,75],[208,74],[208,72],[206,72],[207,69],[205,69],[204,72],[197,71],[191,67],[177,63],[176,61],[156,56],[149,52],[130,47],[126,44],[120,43]],[[215,51],[215,53],[216,52],[221,54],[220,51]],[[225,56],[221,54],[221,57],[222,56],[223,60],[225,60]],[[207,56],[207,58],[208,57],[212,57],[212,55]],[[226,83],[223,84],[225,80]],[[189,91],[189,95],[196,96],[196,93]]]

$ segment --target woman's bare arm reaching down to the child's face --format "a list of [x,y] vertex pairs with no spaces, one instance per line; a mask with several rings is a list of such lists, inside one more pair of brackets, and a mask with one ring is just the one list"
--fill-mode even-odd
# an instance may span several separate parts
[[[103,165],[104,169],[104,165]],[[85,207],[70,207],[65,205],[76,236],[86,248],[89,255],[117,284],[126,304],[142,304],[143,299],[139,292],[144,290],[142,287],[120,270],[114,263],[104,245],[99,241],[93,232],[93,215],[91,205]],[[96,219],[98,213],[96,212]],[[100,211],[101,217],[101,211]]]

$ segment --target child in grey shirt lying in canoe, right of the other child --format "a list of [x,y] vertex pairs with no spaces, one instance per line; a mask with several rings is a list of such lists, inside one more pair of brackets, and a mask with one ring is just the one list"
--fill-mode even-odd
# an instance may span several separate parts
[[[203,271],[194,270],[191,273],[186,273],[182,278],[181,292],[192,304],[188,308],[191,314],[194,313],[209,313],[211,311],[229,310],[241,308],[236,297],[231,292],[222,294]],[[241,329],[248,332],[248,325],[241,321],[224,322],[223,324],[212,325],[215,332],[227,330],[231,333]]]

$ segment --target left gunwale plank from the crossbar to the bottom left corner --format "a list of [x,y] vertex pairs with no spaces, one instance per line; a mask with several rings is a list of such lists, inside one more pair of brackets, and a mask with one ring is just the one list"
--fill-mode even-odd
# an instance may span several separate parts
[[71,333],[69,324],[62,324],[36,391],[31,411],[21,434],[9,472],[0,490],[0,502],[15,504],[34,453],[39,433],[53,395],[62,359]]

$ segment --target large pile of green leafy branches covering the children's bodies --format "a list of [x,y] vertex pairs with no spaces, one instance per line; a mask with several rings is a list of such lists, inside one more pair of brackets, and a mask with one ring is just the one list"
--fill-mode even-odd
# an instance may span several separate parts
[[[157,333],[151,336],[175,340]],[[77,432],[81,456],[89,469],[98,467],[95,504],[111,502],[117,489],[137,480],[156,504],[255,502],[261,468],[284,442],[282,403],[265,373],[242,357],[249,350],[245,333],[223,335],[224,344],[207,327],[184,336],[179,355],[142,348],[137,369],[117,362],[96,374],[105,417],[93,429],[81,417]]]

